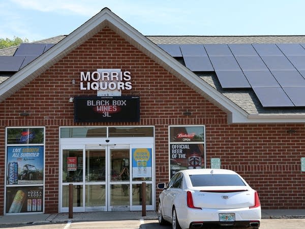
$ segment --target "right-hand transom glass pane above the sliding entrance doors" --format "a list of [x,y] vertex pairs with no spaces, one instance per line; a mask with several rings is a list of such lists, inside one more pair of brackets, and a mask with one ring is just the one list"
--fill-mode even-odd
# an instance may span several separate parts
[[109,137],[154,137],[153,127],[109,127]]

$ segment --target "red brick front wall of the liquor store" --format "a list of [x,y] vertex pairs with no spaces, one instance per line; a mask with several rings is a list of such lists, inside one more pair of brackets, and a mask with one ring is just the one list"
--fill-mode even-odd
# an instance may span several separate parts
[[[96,95],[79,90],[80,72],[97,69],[131,72],[132,90],[140,95],[139,123],[73,122],[69,97]],[[72,79],[76,84],[72,84]],[[189,110],[191,116],[182,112]],[[19,113],[27,111],[28,117]],[[206,159],[220,157],[222,168],[240,173],[259,191],[265,209],[304,208],[303,124],[228,125],[227,115],[193,89],[169,74],[153,60],[117,36],[109,28],[76,48],[41,76],[0,103],[0,211],[4,207],[6,126],[45,126],[45,212],[58,211],[59,126],[154,125],[156,130],[156,183],[168,181],[168,125],[206,126]],[[296,129],[288,134],[288,129]],[[158,197],[159,190],[157,190]]]

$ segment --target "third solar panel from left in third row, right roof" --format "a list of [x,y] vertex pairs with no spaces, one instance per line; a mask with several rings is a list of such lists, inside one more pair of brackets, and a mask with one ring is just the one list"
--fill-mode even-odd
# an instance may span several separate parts
[[305,79],[298,71],[271,71],[282,87],[305,87]]

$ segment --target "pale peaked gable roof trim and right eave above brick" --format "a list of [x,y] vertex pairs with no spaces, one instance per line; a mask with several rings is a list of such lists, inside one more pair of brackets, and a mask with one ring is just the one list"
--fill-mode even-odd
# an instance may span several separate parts
[[[102,28],[108,26],[116,34],[127,40],[144,54],[155,60],[162,67],[175,75],[182,82],[185,82],[195,91],[206,97],[220,109],[228,114],[229,123],[251,123],[251,122],[305,122],[305,112],[302,113],[277,113],[277,114],[249,114],[238,104],[234,103],[228,96],[208,83],[205,77],[198,77],[176,59],[159,48],[152,37],[145,37],[124,20],[112,13],[108,8],[89,19],[70,35],[60,40],[48,51],[27,64],[23,69],[14,74],[13,77],[0,84],[0,102],[4,101],[19,90],[21,87],[31,82],[57,61],[66,56],[80,44],[94,36]],[[149,40],[150,38],[151,40]],[[158,43],[158,42],[157,42]],[[212,77],[212,76],[211,76]],[[202,80],[203,79],[203,80]],[[205,79],[205,80],[204,80]]]

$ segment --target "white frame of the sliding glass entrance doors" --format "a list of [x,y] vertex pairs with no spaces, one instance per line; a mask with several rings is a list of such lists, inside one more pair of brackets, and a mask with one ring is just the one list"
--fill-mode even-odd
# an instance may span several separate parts
[[[109,140],[109,143],[106,143],[106,140]],[[127,145],[126,142],[129,144]],[[140,142],[140,144],[139,144]],[[106,144],[105,144],[106,143]],[[133,184],[140,184],[139,181],[132,181],[132,148],[141,148],[141,147],[147,147],[151,148],[151,181],[146,181],[147,184],[151,185],[151,205],[147,205],[147,210],[154,210],[155,209],[155,196],[156,196],[156,190],[155,190],[155,146],[154,146],[154,137],[116,137],[116,138],[61,138],[60,139],[60,153],[59,153],[59,212],[68,212],[68,207],[62,207],[62,200],[63,200],[63,185],[68,185],[67,183],[63,183],[63,150],[64,149],[75,149],[75,150],[83,150],[83,163],[85,163],[85,151],[86,149],[102,149],[106,148],[106,146],[115,145],[115,148],[121,147],[121,146],[128,146],[130,151],[130,206],[129,209],[125,210],[131,210],[131,211],[139,211],[141,210],[141,206],[134,206],[132,205],[132,185]],[[110,150],[108,150],[110,151]],[[107,155],[107,149],[106,149],[106,163],[109,163],[109,155]],[[105,179],[105,183],[107,185],[110,184],[109,182],[109,170],[110,166],[107,166],[108,168],[108,177]],[[83,206],[82,207],[74,207],[74,212],[85,212],[85,211],[103,211],[102,208],[86,208],[85,207],[85,169],[83,169],[83,182],[71,182],[73,185],[83,185],[82,190],[82,197],[83,197]],[[109,188],[106,187],[106,207],[104,211],[111,211],[111,210],[118,210],[118,209],[112,209],[110,208],[110,195],[109,195]],[[68,198],[68,197],[65,197]],[[124,210],[124,209],[122,209]]]

